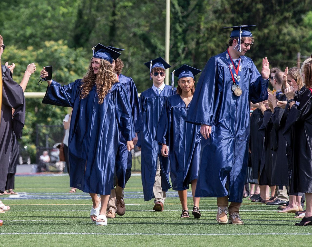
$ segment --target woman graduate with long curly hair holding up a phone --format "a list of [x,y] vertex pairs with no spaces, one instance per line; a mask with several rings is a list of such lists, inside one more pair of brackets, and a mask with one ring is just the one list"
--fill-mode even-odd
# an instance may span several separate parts
[[[119,130],[129,152],[134,148],[135,134],[128,94],[111,65],[120,53],[101,44],[94,51],[85,77],[65,86],[48,81],[42,103],[73,108],[68,145],[70,186],[90,193],[91,220],[106,225]],[[46,70],[41,71],[41,77],[47,75]]]

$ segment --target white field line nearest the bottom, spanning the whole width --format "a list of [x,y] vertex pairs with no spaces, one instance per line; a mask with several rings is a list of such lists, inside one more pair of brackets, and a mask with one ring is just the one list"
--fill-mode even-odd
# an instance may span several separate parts
[[82,232],[8,232],[0,233],[0,235],[157,235],[157,236],[249,236],[249,235],[312,235],[312,233],[285,233],[285,232],[275,232],[275,233],[82,233]]

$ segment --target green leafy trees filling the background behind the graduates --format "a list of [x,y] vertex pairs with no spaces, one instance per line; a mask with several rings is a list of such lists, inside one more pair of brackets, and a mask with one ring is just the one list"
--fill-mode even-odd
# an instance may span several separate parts
[[[68,84],[85,75],[92,47],[102,43],[125,49],[122,73],[142,92],[151,86],[143,63],[165,57],[165,10],[165,0],[2,0],[2,63],[16,64],[13,79],[19,83],[27,64],[35,62],[26,92],[43,92],[46,85],[37,85],[42,66],[53,65],[53,79]],[[247,56],[259,70],[264,56],[271,67],[283,69],[296,66],[298,52],[301,61],[312,52],[308,0],[172,0],[170,24],[170,72],[184,63],[202,69],[227,49],[230,30],[222,27],[240,24],[256,25]],[[60,125],[67,109],[41,104],[41,99],[26,99],[26,104],[20,143],[35,162],[36,124]]]

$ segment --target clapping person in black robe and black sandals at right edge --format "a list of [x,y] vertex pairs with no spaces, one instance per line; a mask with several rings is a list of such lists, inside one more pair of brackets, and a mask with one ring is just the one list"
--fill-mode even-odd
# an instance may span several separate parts
[[[305,217],[295,225],[312,225],[312,61],[307,62],[302,71],[306,90],[297,91],[287,83],[288,67],[285,70],[285,95],[289,108],[285,124],[285,138],[290,139],[292,148],[292,175],[290,192],[305,192]],[[291,138],[289,135],[291,134]]]

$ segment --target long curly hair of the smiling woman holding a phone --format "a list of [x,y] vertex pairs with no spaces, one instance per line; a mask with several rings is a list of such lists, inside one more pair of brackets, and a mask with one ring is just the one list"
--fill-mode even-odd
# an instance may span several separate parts
[[106,94],[108,94],[109,90],[116,82],[118,82],[118,80],[115,71],[108,61],[104,59],[100,60],[100,67],[97,75],[95,75],[92,68],[91,58],[88,71],[82,78],[82,84],[80,85],[80,99],[86,98],[94,85],[99,85],[96,92],[99,98],[98,103],[102,104]]

